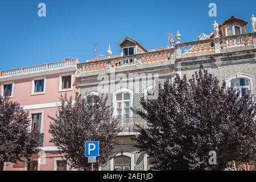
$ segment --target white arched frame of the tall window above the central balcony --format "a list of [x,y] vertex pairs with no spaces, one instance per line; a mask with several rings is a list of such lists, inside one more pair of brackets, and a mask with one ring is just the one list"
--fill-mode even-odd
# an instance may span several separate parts
[[[130,89],[126,89],[126,88],[121,88],[121,89],[118,89],[116,90],[113,94],[112,94],[112,98],[113,98],[113,117],[117,117],[117,95],[119,93],[123,93],[123,92],[126,92],[126,93],[129,93],[130,94],[130,107],[133,107],[133,90],[130,90]],[[123,100],[122,100],[123,102]],[[123,107],[123,104],[122,104],[122,107]],[[122,108],[123,109],[123,108]],[[123,116],[123,113],[122,113],[122,116]],[[133,118],[133,111],[130,109],[130,118]]]

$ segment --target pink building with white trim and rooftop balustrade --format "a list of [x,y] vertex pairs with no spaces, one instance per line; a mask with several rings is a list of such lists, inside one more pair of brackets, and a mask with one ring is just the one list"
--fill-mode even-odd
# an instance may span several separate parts
[[49,142],[48,133],[51,119],[55,117],[59,97],[75,97],[77,59],[65,59],[55,63],[35,65],[26,68],[0,72],[0,93],[10,94],[10,100],[19,102],[31,118],[31,129],[41,133],[38,154],[34,154],[29,163],[4,166],[6,171],[66,171],[72,170],[65,163],[57,148]]

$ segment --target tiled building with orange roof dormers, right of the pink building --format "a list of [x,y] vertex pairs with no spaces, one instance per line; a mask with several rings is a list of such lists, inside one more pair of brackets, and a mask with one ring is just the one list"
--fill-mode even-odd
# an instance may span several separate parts
[[[146,171],[152,168],[154,159],[145,152],[139,152],[134,146],[135,141],[131,139],[138,134],[134,130],[135,124],[143,126],[144,123],[130,107],[142,109],[141,98],[147,97],[148,92],[157,94],[157,81],[172,81],[176,73],[189,78],[203,65],[220,81],[226,81],[227,86],[234,84],[243,87],[243,92],[255,94],[256,32],[246,33],[246,26],[245,20],[232,16],[218,24],[218,36],[214,33],[202,34],[196,41],[180,43],[178,32],[176,44],[174,39],[170,39],[168,47],[154,50],[147,50],[137,41],[126,37],[118,43],[121,49],[119,55],[112,56],[109,48],[108,57],[77,64],[73,91],[76,88],[82,97],[108,94],[108,105],[113,108],[113,117],[121,118],[123,127],[118,135],[119,144],[115,148],[117,156],[106,166],[100,167],[100,170]],[[4,80],[5,73],[9,72],[1,73],[0,84],[3,85],[1,79]],[[16,75],[11,77],[12,80],[16,79]],[[40,102],[35,104],[43,104]],[[252,169],[245,164],[239,164],[236,168]],[[40,169],[51,170],[55,167]]]

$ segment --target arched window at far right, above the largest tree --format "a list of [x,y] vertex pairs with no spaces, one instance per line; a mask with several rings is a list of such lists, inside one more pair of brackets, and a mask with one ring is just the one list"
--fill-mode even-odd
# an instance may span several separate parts
[[250,92],[250,80],[247,78],[235,78],[231,81],[234,88],[240,89],[241,96],[245,94],[251,94]]

